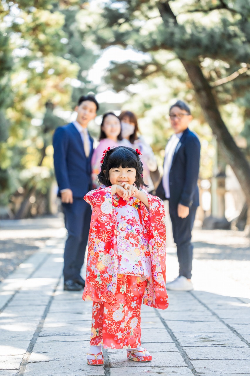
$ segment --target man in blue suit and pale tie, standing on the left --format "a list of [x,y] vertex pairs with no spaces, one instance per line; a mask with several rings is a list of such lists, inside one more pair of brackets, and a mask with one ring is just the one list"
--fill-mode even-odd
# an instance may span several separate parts
[[80,271],[89,236],[91,208],[83,197],[92,189],[93,154],[93,139],[87,125],[96,117],[98,108],[95,97],[80,97],[75,108],[76,121],[58,127],[53,137],[54,168],[68,230],[63,268],[64,290],[68,291],[79,291],[85,285]]

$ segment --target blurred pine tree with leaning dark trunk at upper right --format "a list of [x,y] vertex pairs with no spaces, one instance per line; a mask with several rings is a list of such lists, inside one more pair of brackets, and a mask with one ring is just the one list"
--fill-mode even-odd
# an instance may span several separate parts
[[98,9],[90,3],[79,12],[80,17],[84,38],[94,39],[101,49],[119,45],[145,53],[143,62],[114,61],[105,77],[116,91],[133,93],[136,84],[144,85],[144,109],[139,112],[155,106],[150,92],[160,88],[158,109],[159,117],[163,116],[161,105],[169,92],[179,97],[174,88],[166,86],[164,90],[164,83],[174,86],[178,82],[181,96],[185,93],[192,108],[199,103],[250,208],[247,149],[241,150],[233,138],[242,130],[239,126],[244,118],[242,135],[249,146],[250,3],[108,0],[100,1]]

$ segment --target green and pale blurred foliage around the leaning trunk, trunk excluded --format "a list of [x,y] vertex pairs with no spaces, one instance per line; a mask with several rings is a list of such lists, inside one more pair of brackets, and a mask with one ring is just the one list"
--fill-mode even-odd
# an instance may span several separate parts
[[90,2],[81,11],[81,20],[85,38],[102,50],[119,45],[145,53],[144,61],[112,62],[105,82],[130,94],[123,109],[140,117],[142,133],[159,156],[171,132],[169,105],[175,98],[186,100],[196,118],[191,127],[202,141],[201,175],[212,174],[212,133],[179,58],[201,66],[228,129],[238,136],[245,117],[242,135],[250,140],[245,110],[250,84],[249,2],[109,0],[99,2],[99,8]]

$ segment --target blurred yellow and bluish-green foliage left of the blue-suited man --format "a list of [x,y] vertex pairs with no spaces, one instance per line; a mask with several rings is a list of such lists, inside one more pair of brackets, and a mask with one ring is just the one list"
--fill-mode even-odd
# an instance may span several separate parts
[[0,4],[0,203],[21,195],[16,218],[26,217],[50,188],[51,138],[65,124],[54,110],[72,111],[80,95],[95,90],[86,72],[98,54],[84,47],[75,27],[83,6],[75,0]]

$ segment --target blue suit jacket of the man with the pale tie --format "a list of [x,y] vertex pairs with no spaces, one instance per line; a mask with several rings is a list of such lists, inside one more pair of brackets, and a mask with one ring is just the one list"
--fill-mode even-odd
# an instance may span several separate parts
[[91,157],[93,139],[90,137],[90,153],[86,158],[81,135],[73,123],[58,127],[53,137],[54,167],[60,191],[70,188],[73,197],[83,198],[92,189]]

